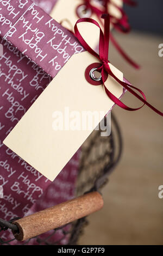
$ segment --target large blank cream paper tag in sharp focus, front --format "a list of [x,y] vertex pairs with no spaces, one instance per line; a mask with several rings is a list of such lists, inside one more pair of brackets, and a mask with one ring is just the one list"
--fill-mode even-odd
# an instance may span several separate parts
[[[90,53],[74,54],[3,142],[51,181],[92,132],[54,130],[54,113],[58,111],[64,116],[65,107],[68,107],[70,112],[79,112],[81,116],[83,111],[104,111],[106,114],[114,105],[103,86],[92,86],[86,81],[85,69],[92,63],[97,63],[97,59]],[[122,72],[111,64],[110,68],[123,81]],[[122,86],[110,76],[106,84],[115,96],[122,95]],[[95,120],[93,129],[98,123]]]

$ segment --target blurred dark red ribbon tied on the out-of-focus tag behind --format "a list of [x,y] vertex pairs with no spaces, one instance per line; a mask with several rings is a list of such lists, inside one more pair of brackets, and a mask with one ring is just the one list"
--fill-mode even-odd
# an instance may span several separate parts
[[[103,14],[109,14],[109,10],[108,10],[108,3],[110,2],[110,0],[103,0],[103,10],[102,9],[98,9],[97,7],[95,7],[94,5],[91,4],[91,0],[83,0],[84,1],[84,5],[86,6],[87,9],[90,9],[92,11],[92,13],[96,14],[96,16],[98,17],[99,22],[102,23],[101,20],[101,16]],[[136,5],[136,3],[132,0],[123,0],[124,3],[130,4],[130,5]],[[117,29],[118,31],[122,32],[122,33],[128,33],[130,31],[130,25],[128,23],[128,17],[126,15],[126,13],[124,13],[124,10],[120,7],[118,7],[116,4],[112,3],[112,5],[114,5],[118,10],[120,10],[121,14],[122,14],[122,18],[121,19],[116,19],[114,16],[110,15],[110,22],[112,23],[112,25],[114,26],[115,29]],[[79,7],[83,5],[80,4]],[[78,9],[78,8],[77,8]],[[78,15],[78,13],[77,13]],[[102,23],[103,25],[103,23]],[[124,59],[127,60],[128,63],[130,63],[130,65],[134,66],[134,68],[139,69],[140,66],[137,65],[128,55],[126,52],[124,52],[124,50],[122,49],[122,47],[117,43],[117,41],[115,40],[114,36],[110,33],[110,40],[112,42],[112,44],[116,47],[117,51],[120,52],[120,54],[123,56]]]

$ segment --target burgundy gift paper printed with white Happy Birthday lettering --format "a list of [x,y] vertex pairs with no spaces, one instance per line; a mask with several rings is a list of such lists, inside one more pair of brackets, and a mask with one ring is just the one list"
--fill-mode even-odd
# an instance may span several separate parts
[[[49,13],[56,1],[35,2]],[[2,143],[77,48],[83,51],[76,38],[41,8],[30,0],[0,1],[0,216],[5,220],[74,196],[80,150],[52,183]],[[49,47],[44,47],[47,41]],[[2,239],[8,237],[12,236],[6,231]]]

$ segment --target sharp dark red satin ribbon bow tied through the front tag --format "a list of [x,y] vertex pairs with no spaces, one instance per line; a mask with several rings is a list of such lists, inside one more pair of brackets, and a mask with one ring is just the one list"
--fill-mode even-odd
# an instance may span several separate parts
[[[101,27],[99,26],[98,22],[96,22],[93,19],[90,18],[82,18],[79,19],[76,22],[76,25],[74,26],[74,32],[75,35],[77,36],[77,39],[79,40],[80,44],[82,44],[82,46],[85,48],[85,50],[87,50],[89,53],[91,53],[93,56],[95,56],[98,60],[100,60],[101,62],[101,66],[98,68],[98,71],[101,71],[101,75],[102,75],[102,82],[103,82],[103,86],[105,89],[106,94],[109,96],[109,98],[114,101],[118,106],[120,106],[123,109],[126,109],[128,111],[136,111],[140,108],[142,108],[144,105],[147,105],[148,107],[150,107],[151,109],[153,109],[153,111],[155,111],[156,113],[158,113],[159,115],[163,116],[163,113],[160,112],[158,109],[156,109],[155,107],[153,107],[151,104],[149,104],[146,101],[146,96],[145,94],[139,89],[136,88],[134,86],[131,86],[131,84],[123,82],[121,80],[119,80],[111,71],[110,67],[109,67],[109,60],[108,60],[108,52],[109,52],[109,35],[110,35],[110,16],[109,14],[103,14],[102,15],[102,19],[104,19],[104,33],[101,29]],[[78,27],[77,24],[80,22],[89,22],[92,23],[94,25],[96,25],[99,29],[100,29],[100,34],[99,34],[99,54],[96,53],[87,43],[86,41],[83,39],[82,35],[79,33],[78,31]],[[137,108],[131,108],[128,107],[127,105],[125,105],[121,100],[119,100],[114,94],[112,94],[105,86],[105,76],[104,74],[108,73],[111,77],[113,77],[118,83],[121,84],[121,86],[123,86],[126,90],[128,90],[128,92],[130,92],[131,94],[133,94],[135,97],[137,97],[137,99],[139,99],[140,101],[143,102],[143,105],[141,107],[137,107]],[[133,89],[137,90],[137,92],[139,92],[142,97],[137,94]]]

